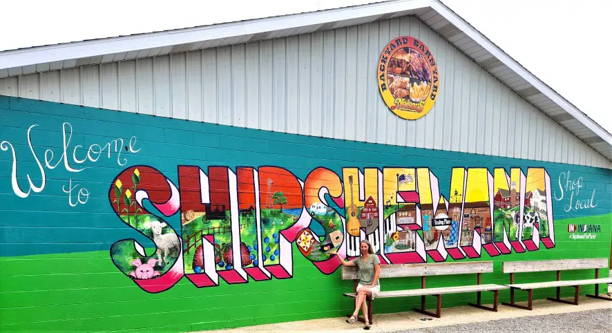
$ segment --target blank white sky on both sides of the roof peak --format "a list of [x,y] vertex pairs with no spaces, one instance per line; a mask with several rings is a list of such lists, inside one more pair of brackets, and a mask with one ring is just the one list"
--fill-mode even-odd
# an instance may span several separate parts
[[[381,0],[3,1],[0,50],[256,19]],[[609,0],[442,0],[612,133]],[[13,13],[7,15],[7,13]],[[603,97],[603,98],[602,98]]]

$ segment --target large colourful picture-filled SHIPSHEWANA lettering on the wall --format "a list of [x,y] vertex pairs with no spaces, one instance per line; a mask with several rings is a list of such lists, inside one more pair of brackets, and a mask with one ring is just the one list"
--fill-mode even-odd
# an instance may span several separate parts
[[[555,247],[544,168],[452,168],[448,198],[426,167],[318,167],[305,180],[280,167],[178,167],[178,187],[153,167],[120,173],[108,191],[118,218],[153,240],[111,247],[113,263],[147,292],[186,276],[197,287],[291,278],[293,247],[323,274],[370,240],[383,265]],[[510,185],[508,185],[510,184]],[[535,194],[534,194],[535,193]],[[144,208],[149,200],[162,216]],[[180,213],[181,235],[163,216]]]

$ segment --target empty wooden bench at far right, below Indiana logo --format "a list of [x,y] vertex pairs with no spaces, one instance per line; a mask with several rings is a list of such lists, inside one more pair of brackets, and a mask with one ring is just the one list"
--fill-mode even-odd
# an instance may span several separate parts
[[[601,298],[611,301],[612,298],[599,296],[600,283],[612,283],[612,278],[600,278],[599,269],[608,267],[608,258],[595,259],[567,259],[567,260],[533,260],[533,261],[512,261],[505,262],[503,272],[510,273],[510,303],[501,303],[520,309],[532,310],[533,307],[533,289],[556,287],[557,298],[548,297],[548,300],[578,305],[578,296],[580,294],[580,285],[595,285],[595,295],[586,295],[593,298]],[[595,278],[586,280],[561,280],[561,271],[570,269],[595,269]],[[557,280],[538,283],[522,283],[515,284],[515,273],[526,272],[551,272],[557,271]],[[565,301],[561,299],[561,287],[574,287],[574,301]],[[527,306],[518,305],[515,303],[515,290],[524,290],[528,293]]]

